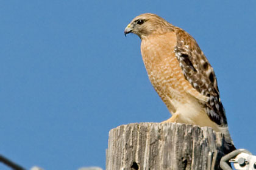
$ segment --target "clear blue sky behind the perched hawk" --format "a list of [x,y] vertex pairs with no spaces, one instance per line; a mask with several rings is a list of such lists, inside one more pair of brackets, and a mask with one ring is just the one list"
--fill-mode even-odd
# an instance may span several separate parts
[[123,33],[146,12],[197,40],[236,148],[256,154],[256,1],[10,0],[0,9],[0,154],[26,168],[105,168],[110,129],[169,118],[140,38]]

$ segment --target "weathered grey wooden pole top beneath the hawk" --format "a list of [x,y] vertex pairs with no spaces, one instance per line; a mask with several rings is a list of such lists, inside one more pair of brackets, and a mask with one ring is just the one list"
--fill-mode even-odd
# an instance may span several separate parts
[[220,169],[224,136],[210,127],[132,123],[109,132],[107,170]]

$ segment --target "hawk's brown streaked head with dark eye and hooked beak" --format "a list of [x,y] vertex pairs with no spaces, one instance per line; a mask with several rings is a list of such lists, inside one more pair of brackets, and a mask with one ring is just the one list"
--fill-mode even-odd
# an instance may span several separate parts
[[172,31],[174,26],[165,19],[152,13],[143,13],[136,16],[124,30],[127,33],[135,33],[142,39],[144,36],[152,34],[162,34]]

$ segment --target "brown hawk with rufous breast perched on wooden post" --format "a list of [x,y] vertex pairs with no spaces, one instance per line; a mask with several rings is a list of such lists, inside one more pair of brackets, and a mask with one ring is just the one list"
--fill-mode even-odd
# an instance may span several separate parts
[[187,32],[152,13],[135,17],[124,34],[141,38],[141,55],[149,80],[172,117],[166,122],[210,126],[226,138],[226,153],[235,150],[215,72]]

